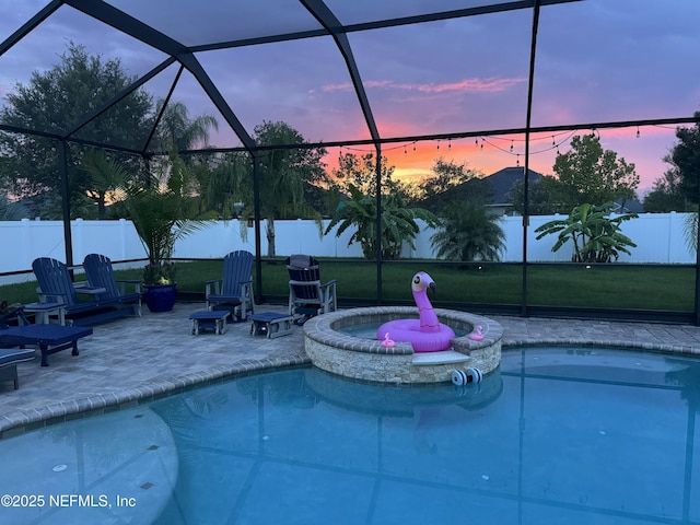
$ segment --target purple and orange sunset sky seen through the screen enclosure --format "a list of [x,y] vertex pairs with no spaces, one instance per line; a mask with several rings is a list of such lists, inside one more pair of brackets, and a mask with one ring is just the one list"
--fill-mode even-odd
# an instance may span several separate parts
[[[48,3],[0,0],[0,39]],[[187,46],[275,32],[304,31],[318,23],[296,0],[112,0]],[[499,3],[477,0],[327,0],[342,23],[408,16]],[[532,124],[690,117],[700,110],[700,1],[583,0],[542,7]],[[450,21],[399,25],[348,34],[382,137],[415,137],[523,128],[533,11],[523,9]],[[166,57],[143,43],[63,5],[0,56],[0,97],[26,83],[33,71],[59,62],[72,40],[103,59],[119,58],[141,75]],[[330,37],[198,52],[197,59],[249,133],[264,120],[282,120],[310,142],[369,139],[345,61]],[[170,67],[145,84],[154,97],[167,93],[177,71]],[[220,121],[211,142],[241,142],[187,71],[174,100],[191,115]],[[639,131],[639,137],[638,137]],[[581,132],[592,132],[583,130]],[[675,144],[675,126],[597,129],[604,149],[634,163],[649,188],[667,168],[662,158]],[[572,131],[533,136],[529,165],[552,174],[557,151]],[[477,143],[478,142],[478,143]],[[343,148],[362,154],[368,147]],[[334,164],[338,149],[329,151]],[[525,163],[522,136],[485,133],[478,139],[411,141],[384,145],[401,176],[420,177],[435,159],[467,163],[488,175]]]

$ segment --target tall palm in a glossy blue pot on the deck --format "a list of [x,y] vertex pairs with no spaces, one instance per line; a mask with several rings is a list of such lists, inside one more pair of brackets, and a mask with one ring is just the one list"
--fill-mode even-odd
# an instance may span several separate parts
[[175,242],[215,220],[213,212],[202,213],[198,199],[192,197],[192,168],[175,152],[170,153],[155,173],[138,178],[104,154],[91,154],[84,165],[93,177],[101,174],[113,182],[145,248],[149,262],[143,268],[143,300],[151,312],[173,310],[177,296],[176,267],[172,260]]

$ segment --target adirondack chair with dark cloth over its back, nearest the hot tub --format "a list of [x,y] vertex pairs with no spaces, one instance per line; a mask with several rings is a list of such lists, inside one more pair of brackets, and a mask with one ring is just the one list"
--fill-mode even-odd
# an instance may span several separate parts
[[335,312],[336,280],[320,282],[318,261],[310,255],[291,255],[287,258],[289,271],[289,315],[301,316],[294,320],[303,324],[306,319]]

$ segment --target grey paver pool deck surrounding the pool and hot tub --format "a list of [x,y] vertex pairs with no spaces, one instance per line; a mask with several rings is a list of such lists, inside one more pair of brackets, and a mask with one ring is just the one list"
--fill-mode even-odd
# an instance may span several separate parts
[[[135,406],[197,384],[270,368],[308,364],[304,335],[277,339],[250,335],[250,323],[230,325],[222,335],[191,335],[189,315],[203,303],[178,303],[173,312],[127,317],[96,325],[70,350],[49,357],[49,366],[20,363],[20,388],[0,384],[0,436],[54,422]],[[259,305],[256,312],[285,311]],[[591,319],[549,319],[489,315],[503,327],[503,350],[530,343],[632,347],[700,357],[700,327]]]

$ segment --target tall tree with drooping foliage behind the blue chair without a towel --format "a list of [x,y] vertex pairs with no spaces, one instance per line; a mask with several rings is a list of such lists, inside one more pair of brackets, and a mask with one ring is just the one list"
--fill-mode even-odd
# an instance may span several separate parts
[[[289,124],[264,121],[255,127],[254,139],[258,145],[275,147],[304,144],[304,137]],[[315,219],[322,230],[320,214],[306,200],[310,185],[324,184],[326,180],[324,148],[269,149],[260,152],[259,188],[260,217],[267,220],[266,236],[268,257],[275,257],[275,221],[305,217]],[[240,160],[240,159],[238,159]],[[250,162],[247,165],[236,160],[230,164],[230,187],[237,201],[245,202],[242,212],[244,219],[254,214],[253,172]],[[225,172],[224,172],[225,173]],[[247,232],[247,230],[244,231]]]

